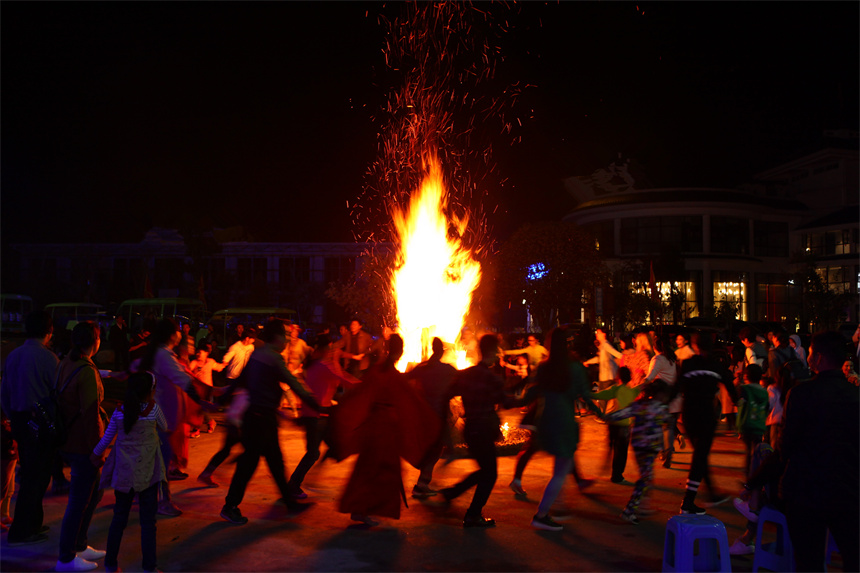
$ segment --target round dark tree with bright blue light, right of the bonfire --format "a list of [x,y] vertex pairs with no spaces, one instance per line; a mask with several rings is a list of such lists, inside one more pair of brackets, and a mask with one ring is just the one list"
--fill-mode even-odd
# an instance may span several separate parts
[[524,299],[543,331],[578,318],[583,293],[605,276],[594,237],[573,223],[527,223],[502,245],[496,262],[503,306]]

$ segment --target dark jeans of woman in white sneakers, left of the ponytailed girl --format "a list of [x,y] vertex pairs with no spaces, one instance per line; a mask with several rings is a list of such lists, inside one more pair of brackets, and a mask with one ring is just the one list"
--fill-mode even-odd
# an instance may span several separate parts
[[103,493],[99,489],[102,470],[92,464],[87,454],[64,452],[63,457],[72,467],[69,503],[60,529],[60,561],[68,563],[75,553],[87,548],[87,530]]

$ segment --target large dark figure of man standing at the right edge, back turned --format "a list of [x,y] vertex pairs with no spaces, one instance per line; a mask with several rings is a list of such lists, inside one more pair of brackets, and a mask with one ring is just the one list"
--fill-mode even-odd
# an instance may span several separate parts
[[827,530],[843,571],[860,571],[860,390],[841,371],[838,332],[812,338],[809,366],[785,401],[781,492],[797,571],[824,571]]

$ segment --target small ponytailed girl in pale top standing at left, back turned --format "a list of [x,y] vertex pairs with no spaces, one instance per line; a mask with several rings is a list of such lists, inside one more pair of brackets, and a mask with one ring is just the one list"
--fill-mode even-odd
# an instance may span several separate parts
[[[111,572],[119,570],[119,546],[135,494],[140,504],[143,570],[156,570],[158,486],[167,479],[158,430],[167,429],[167,420],[153,400],[154,391],[155,378],[149,372],[136,372],[129,377],[125,403],[114,410],[104,437],[91,456],[93,463],[100,465],[102,454],[116,436],[111,454],[115,461],[113,471],[104,472],[101,484],[102,487],[112,486],[116,495],[105,555],[105,569]],[[108,480],[110,482],[106,483]]]

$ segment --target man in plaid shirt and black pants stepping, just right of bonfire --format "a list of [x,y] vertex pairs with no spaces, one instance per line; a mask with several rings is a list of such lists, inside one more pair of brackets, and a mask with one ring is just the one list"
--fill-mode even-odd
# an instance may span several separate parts
[[451,501],[470,487],[477,486],[472,504],[463,519],[463,527],[492,527],[496,524],[495,520],[481,514],[498,476],[495,442],[501,432],[496,404],[505,408],[517,405],[516,398],[505,394],[504,381],[490,370],[498,361],[498,344],[492,334],[482,336],[481,362],[460,372],[448,393],[450,398],[463,398],[463,409],[466,412],[463,435],[466,445],[469,446],[469,453],[478,462],[477,471],[440,492],[446,501]]

